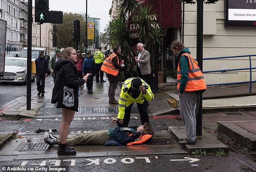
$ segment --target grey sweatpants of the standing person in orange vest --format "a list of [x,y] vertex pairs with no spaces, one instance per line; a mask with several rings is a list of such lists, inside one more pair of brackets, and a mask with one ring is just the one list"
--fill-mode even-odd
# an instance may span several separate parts
[[195,104],[198,94],[195,91],[184,92],[179,96],[180,98],[180,116],[183,120],[186,131],[187,140],[195,141]]

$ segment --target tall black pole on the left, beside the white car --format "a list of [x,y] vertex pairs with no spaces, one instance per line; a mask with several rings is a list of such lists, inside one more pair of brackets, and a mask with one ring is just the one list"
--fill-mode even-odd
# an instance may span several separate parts
[[27,17],[27,110],[31,110],[32,0],[28,0]]

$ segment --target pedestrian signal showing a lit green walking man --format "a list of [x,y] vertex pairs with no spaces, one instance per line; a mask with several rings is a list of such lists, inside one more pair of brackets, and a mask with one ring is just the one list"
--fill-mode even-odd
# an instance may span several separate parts
[[49,0],[35,0],[35,22],[49,22]]

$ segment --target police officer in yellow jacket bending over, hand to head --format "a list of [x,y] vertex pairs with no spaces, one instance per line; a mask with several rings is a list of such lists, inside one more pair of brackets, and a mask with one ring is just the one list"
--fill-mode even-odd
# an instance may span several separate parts
[[150,86],[145,81],[140,78],[127,79],[124,81],[120,93],[118,118],[113,119],[112,122],[117,122],[118,127],[128,127],[132,106],[134,103],[137,103],[141,124],[149,123],[149,114],[147,113],[148,101],[153,100],[153,98],[154,95]]

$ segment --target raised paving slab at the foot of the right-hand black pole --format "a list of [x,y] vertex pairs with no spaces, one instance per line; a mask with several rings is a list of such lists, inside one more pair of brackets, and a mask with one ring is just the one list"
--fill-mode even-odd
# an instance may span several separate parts
[[[170,126],[168,131],[170,131],[176,141],[179,141],[180,138],[186,137],[185,126]],[[197,149],[206,150],[207,153],[216,151],[218,149],[223,149],[225,152],[229,152],[229,147],[227,147],[225,144],[218,141],[210,133],[206,133],[205,131],[202,131],[202,135],[197,137],[197,143],[195,143],[195,145],[184,145],[183,148],[186,149],[189,153]]]

